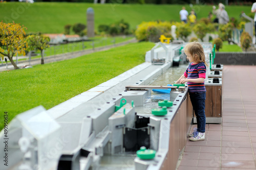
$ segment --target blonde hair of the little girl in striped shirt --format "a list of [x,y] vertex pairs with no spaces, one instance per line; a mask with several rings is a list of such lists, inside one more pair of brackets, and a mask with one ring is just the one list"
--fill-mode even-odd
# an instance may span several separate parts
[[[203,62],[206,66],[208,66],[205,61],[204,48],[198,41],[189,42],[188,44],[186,44],[186,46],[184,47],[184,51],[191,54],[193,60],[196,63]],[[195,54],[197,54],[197,56],[195,56]]]

